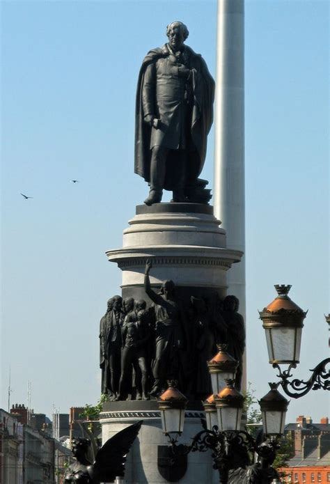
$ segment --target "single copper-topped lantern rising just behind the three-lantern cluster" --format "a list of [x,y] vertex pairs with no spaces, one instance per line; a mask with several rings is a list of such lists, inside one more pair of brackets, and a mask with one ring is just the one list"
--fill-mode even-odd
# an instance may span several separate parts
[[228,345],[217,345],[217,348],[219,352],[207,362],[214,394],[226,387],[226,380],[234,380],[238,366],[238,361],[227,352]]

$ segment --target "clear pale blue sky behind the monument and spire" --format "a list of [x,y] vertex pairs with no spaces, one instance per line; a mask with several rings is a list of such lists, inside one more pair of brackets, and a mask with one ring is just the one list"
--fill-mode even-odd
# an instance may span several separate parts
[[[147,187],[133,173],[143,56],[180,19],[215,75],[216,12],[204,1],[3,1],[0,405],[50,414],[100,396],[98,326],[120,247]],[[276,380],[261,310],[275,283],[309,309],[297,377],[328,356],[329,1],[246,1],[248,380]],[[203,178],[213,180],[213,130]],[[76,178],[79,183],[72,184]],[[33,196],[24,200],[19,193]],[[166,199],[166,198],[165,198]],[[169,199],[169,196],[167,197]],[[325,392],[290,404],[315,421]]]

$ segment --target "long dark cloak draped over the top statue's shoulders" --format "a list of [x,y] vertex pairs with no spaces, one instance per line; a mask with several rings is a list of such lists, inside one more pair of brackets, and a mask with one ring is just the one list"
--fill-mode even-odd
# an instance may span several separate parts
[[[190,134],[194,150],[189,152],[187,163],[187,184],[194,182],[200,175],[205,162],[207,148],[207,134],[213,122],[214,102],[214,79],[207,69],[207,65],[200,54],[193,49],[184,46],[189,53],[191,69],[191,90],[192,90],[192,112]],[[150,63],[156,63],[157,59],[170,55],[165,44],[163,47],[150,50],[143,59],[139,72],[138,85],[136,89],[136,111],[135,111],[135,156],[134,172],[142,176],[146,182],[150,182],[150,134],[152,128],[144,120],[142,91],[143,80],[146,68]],[[166,178],[164,188],[172,190],[177,182],[175,166],[178,166],[180,150],[171,150],[166,164]]]

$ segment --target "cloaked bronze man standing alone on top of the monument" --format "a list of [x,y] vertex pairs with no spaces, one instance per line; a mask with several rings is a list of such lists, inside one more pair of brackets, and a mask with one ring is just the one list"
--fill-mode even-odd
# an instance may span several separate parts
[[182,22],[167,26],[168,43],[143,59],[136,91],[134,171],[150,185],[147,205],[189,200],[203,169],[213,121],[214,80],[200,54],[184,45]]

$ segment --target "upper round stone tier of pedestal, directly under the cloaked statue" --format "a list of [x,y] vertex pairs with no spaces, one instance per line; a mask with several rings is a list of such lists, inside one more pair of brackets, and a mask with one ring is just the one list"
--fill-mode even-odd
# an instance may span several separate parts
[[123,248],[107,251],[123,271],[123,297],[147,299],[143,289],[146,260],[152,259],[151,285],[172,279],[178,295],[226,295],[226,272],[242,257],[226,248],[226,232],[210,205],[155,203],[137,205],[123,233]]

